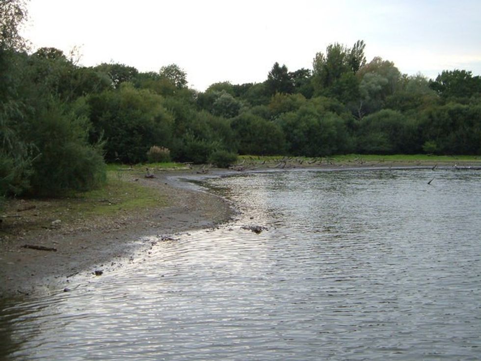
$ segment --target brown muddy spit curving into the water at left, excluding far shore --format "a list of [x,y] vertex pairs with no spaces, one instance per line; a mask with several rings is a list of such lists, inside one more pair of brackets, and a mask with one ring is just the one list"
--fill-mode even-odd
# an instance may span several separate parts
[[[3,235],[1,297],[63,289],[68,286],[70,277],[81,272],[108,272],[108,269],[121,267],[122,260],[134,255],[134,251],[145,243],[142,237],[159,235],[161,238],[177,232],[215,227],[234,215],[226,200],[188,189],[180,180],[167,179],[172,175],[170,172],[157,172],[156,178],[125,173],[123,181],[154,188],[163,200],[160,207],[119,212],[116,217],[91,217],[86,222],[55,223],[54,220],[48,227]],[[177,176],[182,174],[175,172]],[[55,215],[51,217],[56,218]],[[22,247],[25,245],[54,250]]]

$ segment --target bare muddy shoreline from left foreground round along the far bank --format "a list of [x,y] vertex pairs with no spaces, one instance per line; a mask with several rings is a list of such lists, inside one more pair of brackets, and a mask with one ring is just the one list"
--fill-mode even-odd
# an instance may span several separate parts
[[[202,179],[240,172],[282,171],[283,169],[393,169],[412,167],[475,167],[479,160],[453,159],[440,162],[422,161],[346,161],[327,159],[320,162],[300,158],[244,157],[233,169],[195,167],[190,170],[151,170],[155,178],[127,175],[125,181],[137,182],[158,189],[168,197],[168,205],[139,209],[129,215],[92,220],[89,226],[42,229],[16,237],[1,239],[0,243],[0,298],[61,291],[69,285],[69,278],[80,273],[108,272],[121,267],[125,257],[134,255],[142,246],[142,237],[169,236],[179,232],[215,227],[232,220],[234,206],[228,200],[205,190],[196,189],[181,178]],[[23,248],[36,245],[56,251]]]

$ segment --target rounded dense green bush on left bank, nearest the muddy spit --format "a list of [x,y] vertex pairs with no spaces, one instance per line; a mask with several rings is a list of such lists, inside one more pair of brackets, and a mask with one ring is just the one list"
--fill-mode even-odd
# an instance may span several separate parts
[[106,180],[102,144],[87,142],[89,122],[53,102],[31,121],[29,138],[38,149],[31,193],[60,196],[87,191]]

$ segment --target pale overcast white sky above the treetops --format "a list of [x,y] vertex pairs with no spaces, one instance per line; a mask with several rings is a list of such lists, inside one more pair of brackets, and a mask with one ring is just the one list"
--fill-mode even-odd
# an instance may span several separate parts
[[176,63],[189,86],[263,82],[274,62],[312,68],[317,52],[366,43],[366,57],[435,78],[481,74],[481,0],[30,0],[24,36],[80,64],[139,71]]

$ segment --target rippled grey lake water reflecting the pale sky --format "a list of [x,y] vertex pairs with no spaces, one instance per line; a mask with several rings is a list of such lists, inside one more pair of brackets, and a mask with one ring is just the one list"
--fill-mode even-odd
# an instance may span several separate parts
[[[150,254],[120,270],[8,300],[0,359],[481,359],[480,171],[207,183],[236,222],[147,237]],[[241,228],[253,224],[268,230]]]

